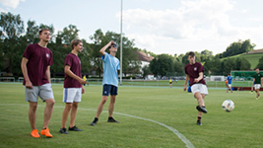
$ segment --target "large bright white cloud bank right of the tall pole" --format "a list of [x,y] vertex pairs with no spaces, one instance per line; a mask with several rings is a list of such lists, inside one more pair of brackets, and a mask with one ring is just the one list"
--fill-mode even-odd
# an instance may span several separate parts
[[128,28],[124,32],[135,39],[136,46],[157,54],[204,49],[216,54],[238,39],[250,38],[252,43],[263,39],[262,27],[236,27],[230,23],[227,12],[235,6],[231,0],[184,0],[181,4],[178,9],[125,10],[123,21]]

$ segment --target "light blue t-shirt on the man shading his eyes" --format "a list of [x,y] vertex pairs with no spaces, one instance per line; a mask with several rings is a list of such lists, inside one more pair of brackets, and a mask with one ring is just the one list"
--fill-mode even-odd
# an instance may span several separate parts
[[118,87],[118,73],[117,70],[120,70],[120,61],[116,57],[111,56],[105,52],[104,56],[101,56],[103,60],[103,81],[102,85],[114,85]]

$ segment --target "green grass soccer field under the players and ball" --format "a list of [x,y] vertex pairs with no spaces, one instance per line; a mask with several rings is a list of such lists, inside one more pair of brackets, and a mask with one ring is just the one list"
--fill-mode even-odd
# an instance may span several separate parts
[[[182,88],[119,87],[115,114],[120,123],[107,123],[108,101],[99,122],[89,123],[102,94],[101,86],[85,86],[85,93],[76,118],[82,132],[61,135],[63,85],[52,85],[55,107],[49,124],[52,139],[34,139],[30,136],[22,84],[0,83],[0,147],[186,147],[171,130],[178,130],[194,147],[262,147],[263,117],[262,99],[247,91],[225,93],[225,90],[209,89],[206,97],[208,113],[203,115],[203,126],[196,125],[196,100]],[[232,99],[236,105],[231,113],[224,112],[221,104]],[[39,101],[37,127],[41,130],[45,103]],[[122,113],[122,114],[118,114]],[[132,115],[129,117],[128,115]],[[141,117],[142,119],[140,119]],[[147,120],[145,120],[147,119]],[[67,126],[69,121],[67,122]]]

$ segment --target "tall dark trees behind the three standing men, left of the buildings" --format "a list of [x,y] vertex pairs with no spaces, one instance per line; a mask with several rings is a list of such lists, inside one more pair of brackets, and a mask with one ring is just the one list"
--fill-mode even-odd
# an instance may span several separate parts
[[[34,20],[27,21],[27,28],[24,33],[23,21],[20,15],[12,13],[1,13],[0,20],[0,68],[1,71],[13,73],[16,77],[22,76],[20,63],[23,52],[27,45],[38,43],[38,31],[41,28],[49,28],[51,32],[51,40],[48,48],[53,52],[53,65],[51,66],[52,77],[63,77],[64,58],[71,52],[70,42],[72,39],[79,38],[79,29],[75,25],[68,25],[62,31],[54,34],[53,25],[40,24],[37,25]],[[82,39],[84,49],[78,54],[81,59],[81,72],[90,74],[96,71],[101,76],[103,66],[99,50],[108,42],[113,40],[117,45],[120,43],[120,34],[107,31],[105,34],[98,29],[90,36],[93,43],[86,42]],[[141,62],[138,60],[134,47],[134,40],[123,37],[123,73],[139,74]],[[119,49],[119,47],[118,47]],[[120,58],[120,52],[116,55]]]

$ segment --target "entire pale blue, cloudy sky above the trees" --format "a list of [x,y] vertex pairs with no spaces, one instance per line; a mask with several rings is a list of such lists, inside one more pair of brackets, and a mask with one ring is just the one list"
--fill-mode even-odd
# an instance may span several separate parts
[[[208,49],[222,53],[233,42],[250,39],[263,48],[262,0],[123,0],[123,34],[135,47],[155,54]],[[95,30],[120,33],[121,0],[0,0],[0,11],[53,24],[69,24],[88,42]]]

